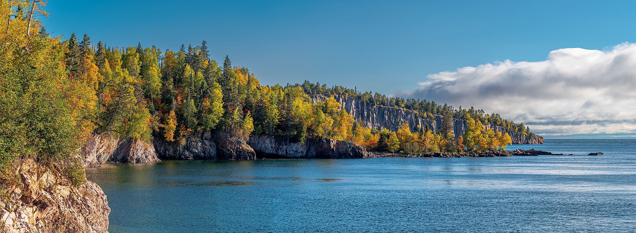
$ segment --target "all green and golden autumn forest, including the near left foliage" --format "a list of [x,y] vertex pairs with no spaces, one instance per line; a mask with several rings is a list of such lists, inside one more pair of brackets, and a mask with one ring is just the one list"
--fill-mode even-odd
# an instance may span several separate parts
[[[532,134],[523,123],[473,107],[455,109],[310,81],[261,85],[247,67],[233,66],[229,56],[222,62],[211,59],[206,41],[173,51],[141,43],[106,46],[86,34],[62,39],[33,17],[46,15],[42,3],[1,4],[0,169],[24,157],[73,160],[95,133],[183,143],[194,132],[218,130],[243,139],[268,134],[291,142],[347,140],[392,153],[504,150],[511,143],[509,134],[486,130],[485,124]],[[417,125],[418,131],[411,132],[406,124],[396,132],[370,129],[357,124],[333,97],[322,102],[310,98],[335,94],[424,117],[441,115],[443,124],[439,131]],[[453,135],[453,118],[467,121],[466,134]]]

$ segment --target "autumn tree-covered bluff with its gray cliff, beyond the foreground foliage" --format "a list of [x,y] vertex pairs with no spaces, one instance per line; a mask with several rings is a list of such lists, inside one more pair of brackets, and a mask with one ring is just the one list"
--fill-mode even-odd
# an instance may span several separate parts
[[[509,143],[543,142],[523,123],[472,107],[309,81],[260,85],[254,73],[232,66],[228,56],[222,63],[211,59],[205,41],[175,52],[141,44],[93,45],[88,35],[78,41],[73,34],[61,45],[69,77],[85,82],[95,95],[83,118],[98,134],[183,145],[199,131],[224,131],[243,141],[251,134],[291,143],[336,139],[368,151],[401,153],[503,150]],[[358,111],[347,108],[349,98]],[[388,108],[393,115],[413,116],[378,111]],[[391,122],[370,124],[369,119]]]

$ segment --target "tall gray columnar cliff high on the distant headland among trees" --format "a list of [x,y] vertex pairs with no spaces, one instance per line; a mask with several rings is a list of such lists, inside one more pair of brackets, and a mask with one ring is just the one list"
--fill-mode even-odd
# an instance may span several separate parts
[[[324,101],[329,98],[328,95],[312,95],[312,101]],[[417,131],[418,125],[428,125],[429,129],[438,131],[441,127],[440,115],[433,115],[423,117],[417,111],[385,107],[385,106],[373,106],[371,104],[364,104],[362,101],[349,97],[346,95],[334,95],[337,102],[340,103],[341,108],[344,108],[350,115],[354,116],[356,121],[364,127],[370,127],[374,129],[389,129],[391,131],[397,131],[400,124],[408,123],[411,127],[411,131]],[[466,132],[466,122],[464,120],[453,119],[453,128],[455,131],[455,137],[459,137]],[[508,129],[499,127],[497,125],[485,125],[487,129],[492,128],[495,132],[508,132]],[[523,136],[517,132],[509,132],[513,144],[543,144],[543,137],[538,135]]]

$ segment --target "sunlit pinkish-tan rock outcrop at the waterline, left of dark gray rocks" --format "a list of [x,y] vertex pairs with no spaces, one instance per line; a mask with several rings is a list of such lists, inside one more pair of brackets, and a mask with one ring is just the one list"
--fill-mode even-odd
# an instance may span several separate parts
[[81,148],[85,167],[97,167],[107,162],[161,162],[155,147],[141,140],[94,134]]

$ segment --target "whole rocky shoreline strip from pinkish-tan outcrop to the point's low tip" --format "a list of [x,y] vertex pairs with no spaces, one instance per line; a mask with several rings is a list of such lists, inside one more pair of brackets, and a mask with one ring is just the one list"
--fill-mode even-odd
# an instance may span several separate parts
[[[97,167],[111,162],[160,162],[161,160],[256,160],[256,159],[366,159],[383,157],[509,157],[564,155],[541,150],[504,150],[466,153],[367,152],[363,146],[334,139],[289,142],[276,136],[252,134],[239,138],[224,131],[199,131],[181,143],[157,139],[147,144],[130,139],[95,135],[83,146],[84,165]],[[589,155],[602,155],[590,153]]]

